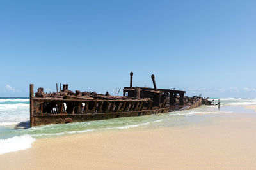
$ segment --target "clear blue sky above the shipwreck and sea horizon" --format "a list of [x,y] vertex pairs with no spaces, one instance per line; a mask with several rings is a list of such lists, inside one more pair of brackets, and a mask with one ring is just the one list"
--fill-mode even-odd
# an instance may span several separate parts
[[256,97],[256,1],[1,1],[0,97],[29,83]]

